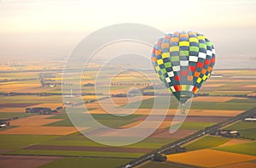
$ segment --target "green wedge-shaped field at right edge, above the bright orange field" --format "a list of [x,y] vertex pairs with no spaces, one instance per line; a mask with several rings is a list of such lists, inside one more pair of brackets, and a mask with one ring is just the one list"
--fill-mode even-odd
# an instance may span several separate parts
[[229,146],[218,147],[214,149],[238,153],[238,154],[251,154],[253,156],[256,156],[256,142],[229,145]]

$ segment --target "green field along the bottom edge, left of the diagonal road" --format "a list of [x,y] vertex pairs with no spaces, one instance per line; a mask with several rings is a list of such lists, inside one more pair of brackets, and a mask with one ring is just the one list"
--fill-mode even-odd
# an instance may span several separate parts
[[125,159],[107,159],[107,158],[63,158],[60,160],[55,160],[49,164],[40,166],[40,168],[84,168],[84,167],[116,167],[119,165],[125,165],[130,160]]

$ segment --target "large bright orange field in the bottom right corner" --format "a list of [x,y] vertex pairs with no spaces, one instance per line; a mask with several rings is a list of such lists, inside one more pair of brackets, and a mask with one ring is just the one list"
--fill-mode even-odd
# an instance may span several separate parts
[[202,149],[182,154],[167,155],[167,161],[202,167],[230,165],[250,160],[256,160],[256,157],[247,154],[235,154],[213,149]]

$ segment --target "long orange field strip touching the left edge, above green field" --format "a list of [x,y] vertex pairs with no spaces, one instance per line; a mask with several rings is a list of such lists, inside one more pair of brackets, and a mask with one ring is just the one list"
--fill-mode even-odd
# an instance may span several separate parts
[[20,126],[4,130],[0,134],[68,135],[78,132],[73,126]]

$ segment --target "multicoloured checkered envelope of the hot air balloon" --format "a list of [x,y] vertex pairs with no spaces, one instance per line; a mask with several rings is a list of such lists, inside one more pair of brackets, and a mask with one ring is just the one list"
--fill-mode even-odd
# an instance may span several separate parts
[[211,75],[215,50],[206,36],[177,31],[154,43],[151,59],[160,80],[184,104]]

